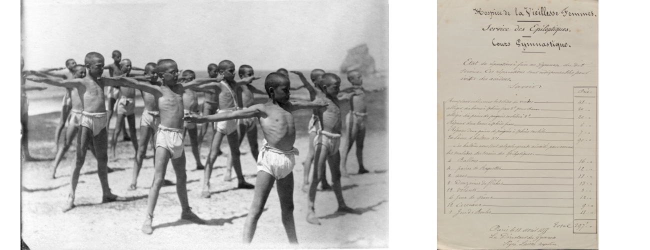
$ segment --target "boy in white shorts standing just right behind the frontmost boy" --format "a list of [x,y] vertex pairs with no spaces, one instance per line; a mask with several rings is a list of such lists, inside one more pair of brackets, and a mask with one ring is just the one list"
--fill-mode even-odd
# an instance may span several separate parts
[[[324,101],[328,103],[327,108],[318,109],[317,116],[320,119],[320,128],[318,136],[313,141],[316,149],[314,158],[314,177],[309,186],[309,202],[307,206],[307,222],[320,225],[314,210],[314,201],[316,199],[316,188],[318,181],[325,173],[325,160],[328,161],[331,171],[331,181],[334,194],[339,203],[337,212],[354,212],[352,208],[345,205],[343,201],[343,192],[341,191],[341,171],[339,169],[339,143],[341,139],[341,108],[339,108],[339,87],[341,79],[333,73],[322,75],[319,82],[320,90],[324,92],[325,97],[317,97],[315,101]],[[355,93],[348,94],[348,98]],[[345,98],[345,97],[341,97]]]

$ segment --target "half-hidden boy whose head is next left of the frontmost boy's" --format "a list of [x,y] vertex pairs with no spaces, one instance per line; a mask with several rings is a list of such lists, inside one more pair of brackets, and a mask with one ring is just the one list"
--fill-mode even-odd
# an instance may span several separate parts
[[[253,67],[248,66],[246,64],[239,66],[239,79],[244,79],[246,77],[252,77],[254,75]],[[251,84],[246,84],[244,86],[240,86],[235,90],[237,94],[237,107],[238,109],[244,109],[248,108],[249,106],[253,105],[253,102],[255,101],[255,97],[253,97],[253,93],[255,94],[263,94],[265,95],[266,92],[263,92],[261,90],[258,90],[257,88],[253,87]],[[257,162],[257,155],[259,155],[259,147],[257,145],[257,123],[255,123],[256,119],[255,118],[248,118],[248,119],[241,119],[239,121],[239,145],[241,146],[243,140],[244,140],[244,135],[248,137],[248,145],[250,145],[250,154],[255,158],[255,162]],[[233,162],[232,162],[232,157],[228,158],[228,166],[226,167],[226,174],[224,175],[224,181],[230,181],[231,180],[231,175],[232,175],[232,169],[233,169]]]

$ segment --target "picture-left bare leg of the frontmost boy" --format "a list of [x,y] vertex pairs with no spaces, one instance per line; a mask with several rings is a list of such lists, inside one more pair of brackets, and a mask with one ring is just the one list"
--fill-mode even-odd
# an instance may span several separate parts
[[268,199],[268,193],[271,192],[275,181],[276,179],[265,171],[257,171],[255,195],[253,196],[253,203],[250,205],[248,216],[246,216],[246,223],[244,224],[244,243],[246,244],[250,244],[253,241],[253,235],[257,228],[257,220],[262,215],[266,199]]

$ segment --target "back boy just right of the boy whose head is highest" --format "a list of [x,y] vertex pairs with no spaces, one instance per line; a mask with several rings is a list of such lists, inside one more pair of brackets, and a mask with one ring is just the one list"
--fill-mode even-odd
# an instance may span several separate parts
[[[120,62],[120,71],[123,76],[131,77],[131,60],[123,59]],[[138,136],[135,134],[135,88],[121,87],[118,89],[119,99],[116,103],[117,119],[115,120],[115,129],[113,130],[113,140],[110,141],[110,150],[115,157],[115,147],[118,144],[118,135],[124,128],[124,118],[129,123],[129,134],[131,135],[131,144],[133,144],[134,153],[138,152]],[[124,131],[126,135],[126,131]]]

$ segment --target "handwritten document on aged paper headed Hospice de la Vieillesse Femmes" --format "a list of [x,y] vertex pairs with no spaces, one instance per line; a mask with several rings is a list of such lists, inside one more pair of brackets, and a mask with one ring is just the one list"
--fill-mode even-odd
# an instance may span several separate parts
[[598,248],[598,2],[438,1],[438,249]]

